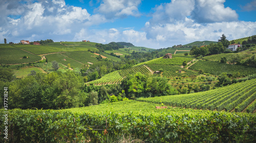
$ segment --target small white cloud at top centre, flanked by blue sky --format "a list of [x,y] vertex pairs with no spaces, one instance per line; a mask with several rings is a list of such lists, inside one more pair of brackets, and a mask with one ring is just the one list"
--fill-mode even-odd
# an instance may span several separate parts
[[140,16],[138,10],[140,3],[140,0],[103,0],[96,11],[105,15],[108,19],[123,18],[130,15]]

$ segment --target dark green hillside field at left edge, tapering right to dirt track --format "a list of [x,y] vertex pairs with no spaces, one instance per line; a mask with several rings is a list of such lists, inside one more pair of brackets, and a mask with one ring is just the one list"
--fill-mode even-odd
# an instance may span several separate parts
[[[31,54],[7,44],[0,44],[0,50],[0,64],[22,64],[41,60],[41,57],[38,55]],[[29,56],[29,58],[23,59],[24,55]]]

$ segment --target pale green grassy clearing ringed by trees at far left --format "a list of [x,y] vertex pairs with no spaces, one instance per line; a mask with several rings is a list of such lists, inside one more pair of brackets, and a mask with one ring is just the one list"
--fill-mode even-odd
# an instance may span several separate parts
[[41,73],[43,72],[41,70],[41,68],[37,68],[37,67],[26,67],[26,68],[21,68],[18,70],[14,70],[14,76],[16,76],[17,78],[24,78],[26,76],[28,76],[28,74],[30,74],[30,71],[34,70],[36,73]]

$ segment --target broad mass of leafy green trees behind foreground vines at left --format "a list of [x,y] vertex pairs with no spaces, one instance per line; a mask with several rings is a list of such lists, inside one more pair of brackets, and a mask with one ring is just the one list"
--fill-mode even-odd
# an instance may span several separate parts
[[[83,78],[73,72],[36,73],[9,86],[9,108],[71,108],[88,105]],[[1,105],[2,106],[2,105]]]

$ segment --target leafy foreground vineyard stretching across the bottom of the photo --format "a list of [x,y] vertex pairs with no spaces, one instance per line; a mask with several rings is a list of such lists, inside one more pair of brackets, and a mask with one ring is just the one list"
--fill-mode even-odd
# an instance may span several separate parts
[[[112,136],[129,134],[146,142],[255,142],[255,114],[156,106],[160,105],[127,100],[63,110],[13,109],[8,113],[12,132],[8,138],[107,142]],[[0,127],[5,129],[3,109],[1,113]],[[4,142],[4,137],[0,140]]]

